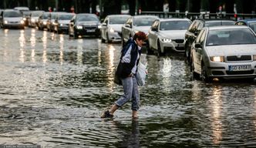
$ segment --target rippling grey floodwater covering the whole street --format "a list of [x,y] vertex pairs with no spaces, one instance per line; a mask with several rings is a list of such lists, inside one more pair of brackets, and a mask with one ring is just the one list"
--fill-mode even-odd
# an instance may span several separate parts
[[36,29],[0,30],[0,145],[41,147],[256,146],[255,82],[193,80],[183,55],[142,55],[140,117],[113,83],[121,44]]

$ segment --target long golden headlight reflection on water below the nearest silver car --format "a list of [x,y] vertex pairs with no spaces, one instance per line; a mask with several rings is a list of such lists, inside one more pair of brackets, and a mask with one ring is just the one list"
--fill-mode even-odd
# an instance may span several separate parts
[[212,116],[212,129],[213,129],[213,142],[214,144],[221,143],[222,140],[222,123],[221,123],[221,88],[214,87],[213,89],[213,99],[211,99],[211,116]]

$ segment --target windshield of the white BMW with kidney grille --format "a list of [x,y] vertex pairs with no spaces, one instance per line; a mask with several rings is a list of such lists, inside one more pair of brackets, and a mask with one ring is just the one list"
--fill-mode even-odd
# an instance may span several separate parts
[[188,21],[168,21],[161,22],[160,30],[187,30],[190,22]]

